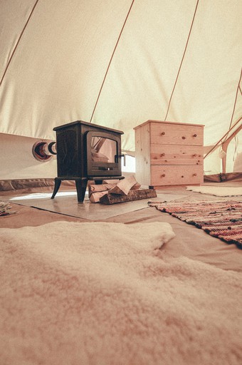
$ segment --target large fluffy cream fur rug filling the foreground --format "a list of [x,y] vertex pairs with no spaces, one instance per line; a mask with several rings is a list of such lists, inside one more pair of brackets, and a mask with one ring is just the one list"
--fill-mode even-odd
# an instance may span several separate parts
[[1,229],[1,364],[240,365],[242,274],[162,259],[172,237],[160,222]]

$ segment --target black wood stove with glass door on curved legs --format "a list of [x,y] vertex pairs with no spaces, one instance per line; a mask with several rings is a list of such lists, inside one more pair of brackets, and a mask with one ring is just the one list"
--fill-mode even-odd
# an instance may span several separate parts
[[88,180],[122,179],[120,130],[77,120],[56,128],[57,172],[53,199],[63,180],[75,180],[83,202]]

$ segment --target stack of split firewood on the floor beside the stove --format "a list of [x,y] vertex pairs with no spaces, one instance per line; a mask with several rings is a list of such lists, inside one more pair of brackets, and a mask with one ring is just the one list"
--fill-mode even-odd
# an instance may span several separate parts
[[117,202],[130,202],[132,200],[157,197],[153,189],[141,189],[134,176],[122,180],[103,180],[101,185],[88,185],[90,202],[102,204],[115,204]]

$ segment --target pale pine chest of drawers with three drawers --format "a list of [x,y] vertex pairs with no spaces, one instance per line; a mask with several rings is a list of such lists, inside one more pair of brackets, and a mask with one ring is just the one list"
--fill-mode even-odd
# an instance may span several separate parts
[[147,120],[134,129],[140,184],[157,188],[204,182],[204,125]]

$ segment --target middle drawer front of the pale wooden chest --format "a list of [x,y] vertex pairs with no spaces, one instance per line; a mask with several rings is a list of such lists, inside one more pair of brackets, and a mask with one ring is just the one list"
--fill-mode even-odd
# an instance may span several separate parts
[[151,165],[203,165],[204,148],[200,145],[150,145]]

